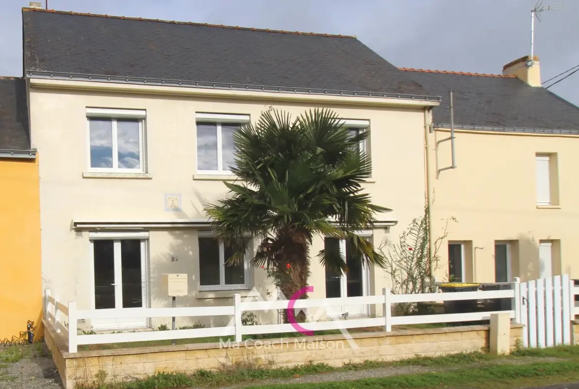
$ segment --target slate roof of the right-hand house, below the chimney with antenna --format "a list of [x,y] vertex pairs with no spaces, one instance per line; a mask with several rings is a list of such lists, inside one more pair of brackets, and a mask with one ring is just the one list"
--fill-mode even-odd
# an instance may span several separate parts
[[498,131],[579,133],[579,107],[515,76],[405,69],[429,94],[442,97],[433,121],[450,123],[452,89],[455,126]]

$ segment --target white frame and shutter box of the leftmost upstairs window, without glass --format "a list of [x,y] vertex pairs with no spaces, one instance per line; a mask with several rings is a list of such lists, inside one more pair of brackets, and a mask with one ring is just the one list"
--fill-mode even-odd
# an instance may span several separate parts
[[[111,119],[112,124],[112,168],[93,168],[90,165],[90,120]],[[139,168],[119,168],[119,138],[117,132],[117,119],[136,119],[139,123]],[[146,147],[145,147],[145,110],[123,110],[113,108],[86,108],[86,144],[87,144],[87,168],[89,172],[96,173],[146,173]]]

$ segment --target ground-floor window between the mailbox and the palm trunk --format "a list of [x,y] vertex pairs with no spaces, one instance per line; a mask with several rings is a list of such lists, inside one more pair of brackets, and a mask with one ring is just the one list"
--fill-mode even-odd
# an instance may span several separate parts
[[248,263],[225,266],[233,250],[217,238],[200,233],[199,290],[248,289]]

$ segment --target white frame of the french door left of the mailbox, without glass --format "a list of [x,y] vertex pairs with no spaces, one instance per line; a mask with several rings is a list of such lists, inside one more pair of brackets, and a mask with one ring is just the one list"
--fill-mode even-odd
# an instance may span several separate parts
[[[115,266],[115,307],[122,306],[123,288],[122,288],[122,270],[121,270],[121,253],[120,241],[124,239],[138,239],[141,241],[141,294],[142,306],[144,308],[149,306],[149,261],[148,261],[148,242],[149,232],[143,231],[129,231],[129,232],[89,232],[89,251],[90,251],[90,266],[89,266],[89,286],[90,286],[90,309],[94,310],[95,295],[94,295],[94,241],[108,240],[113,241],[114,246],[114,266]],[[130,309],[130,308],[126,308]],[[121,329],[121,328],[143,328],[149,325],[148,318],[135,319],[93,319],[91,327],[95,330],[105,329]]]

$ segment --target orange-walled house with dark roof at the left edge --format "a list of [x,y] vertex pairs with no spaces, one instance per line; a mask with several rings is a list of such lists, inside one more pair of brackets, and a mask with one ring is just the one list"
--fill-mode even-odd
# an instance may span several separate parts
[[38,161],[26,81],[0,77],[0,340],[26,340],[42,318]]

